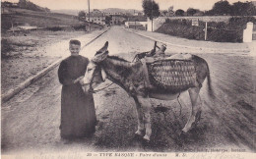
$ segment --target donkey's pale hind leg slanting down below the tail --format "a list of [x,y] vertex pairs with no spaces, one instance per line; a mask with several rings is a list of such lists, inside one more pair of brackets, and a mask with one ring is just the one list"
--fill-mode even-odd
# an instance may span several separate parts
[[199,95],[200,87],[193,87],[188,90],[191,103],[192,103],[192,112],[189,117],[189,120],[185,127],[183,128],[183,132],[188,132],[191,130],[192,126],[198,122],[201,115],[201,103],[197,103],[198,95]]

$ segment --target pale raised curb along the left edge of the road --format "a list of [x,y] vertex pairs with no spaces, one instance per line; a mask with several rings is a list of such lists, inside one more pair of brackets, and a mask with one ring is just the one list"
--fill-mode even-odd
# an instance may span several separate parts
[[[103,32],[99,33],[95,38],[93,38],[91,41],[89,41],[87,44],[85,44],[82,48],[85,48],[86,46],[88,46],[89,44],[91,44],[92,42],[94,42],[99,36],[101,36],[102,34],[104,34],[106,31],[108,31],[109,28],[107,28],[106,30],[104,30]],[[53,64],[51,64],[50,66],[48,66],[47,68],[43,69],[42,71],[38,72],[36,75],[32,76],[29,79],[26,79],[25,81],[23,81],[22,83],[18,84],[15,88],[12,88],[10,90],[7,91],[7,93],[2,95],[1,101],[2,103],[8,101],[9,99],[11,99],[13,96],[15,96],[16,94],[18,94],[19,92],[21,92],[23,89],[25,89],[26,87],[28,87],[29,85],[32,84],[32,82],[36,81],[37,79],[40,79],[41,77],[43,77],[44,75],[46,75],[49,71],[51,71],[52,69],[54,69],[55,67],[57,67],[60,62],[62,60],[64,60],[66,57],[63,57],[59,60],[57,60],[56,62],[54,62]]]

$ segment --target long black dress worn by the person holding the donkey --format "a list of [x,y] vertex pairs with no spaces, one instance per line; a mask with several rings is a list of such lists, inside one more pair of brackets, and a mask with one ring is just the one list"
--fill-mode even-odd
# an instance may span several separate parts
[[62,138],[85,137],[96,131],[96,110],[93,94],[85,93],[74,79],[85,76],[89,60],[83,56],[70,56],[60,63],[58,77],[61,91]]

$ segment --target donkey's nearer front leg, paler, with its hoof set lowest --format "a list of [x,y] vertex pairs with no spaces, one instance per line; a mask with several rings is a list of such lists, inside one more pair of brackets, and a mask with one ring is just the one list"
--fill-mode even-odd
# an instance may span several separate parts
[[138,101],[143,108],[144,124],[146,128],[146,134],[143,136],[144,139],[150,140],[151,137],[151,102],[148,97],[138,96]]

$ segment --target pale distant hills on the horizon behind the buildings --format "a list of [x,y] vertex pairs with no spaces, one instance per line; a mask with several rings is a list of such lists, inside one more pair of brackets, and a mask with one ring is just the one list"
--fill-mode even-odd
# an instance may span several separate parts
[[[51,12],[54,13],[61,13],[61,14],[67,14],[67,15],[73,15],[73,16],[78,16],[78,13],[81,10],[51,10]],[[88,10],[84,10],[88,12]],[[93,10],[92,10],[93,11]],[[133,10],[133,9],[120,9],[120,8],[107,8],[107,9],[101,9],[101,12],[104,13],[123,13],[123,14],[134,14],[138,12],[142,12],[139,10]]]

